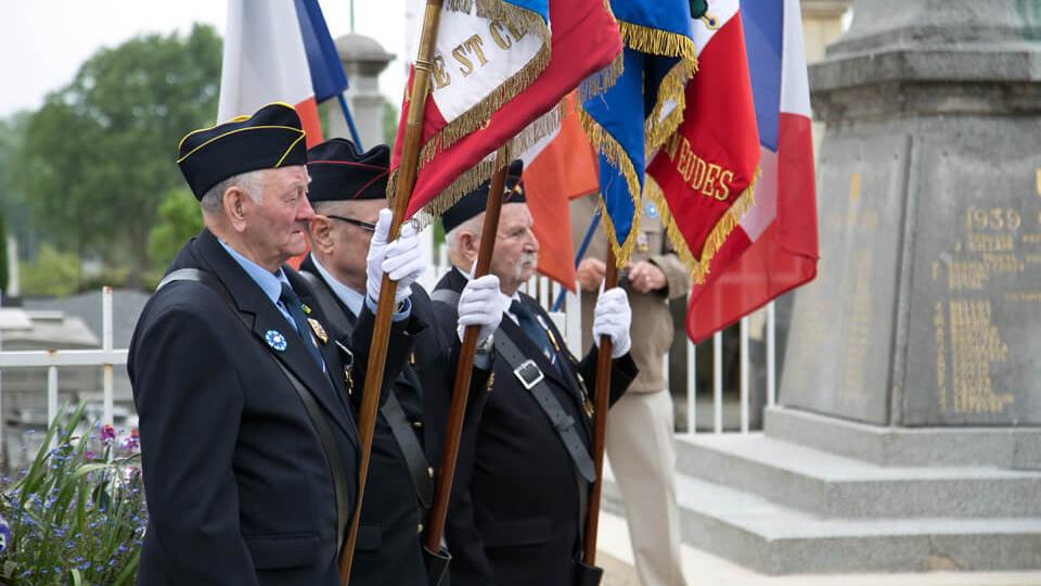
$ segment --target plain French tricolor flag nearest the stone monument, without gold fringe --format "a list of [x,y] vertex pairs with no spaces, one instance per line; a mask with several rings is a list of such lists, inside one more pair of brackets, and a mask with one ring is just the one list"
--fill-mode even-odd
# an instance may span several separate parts
[[741,16],[762,175],[755,205],[716,255],[706,282],[691,291],[687,334],[694,341],[817,276],[813,141],[799,1],[744,0]]

